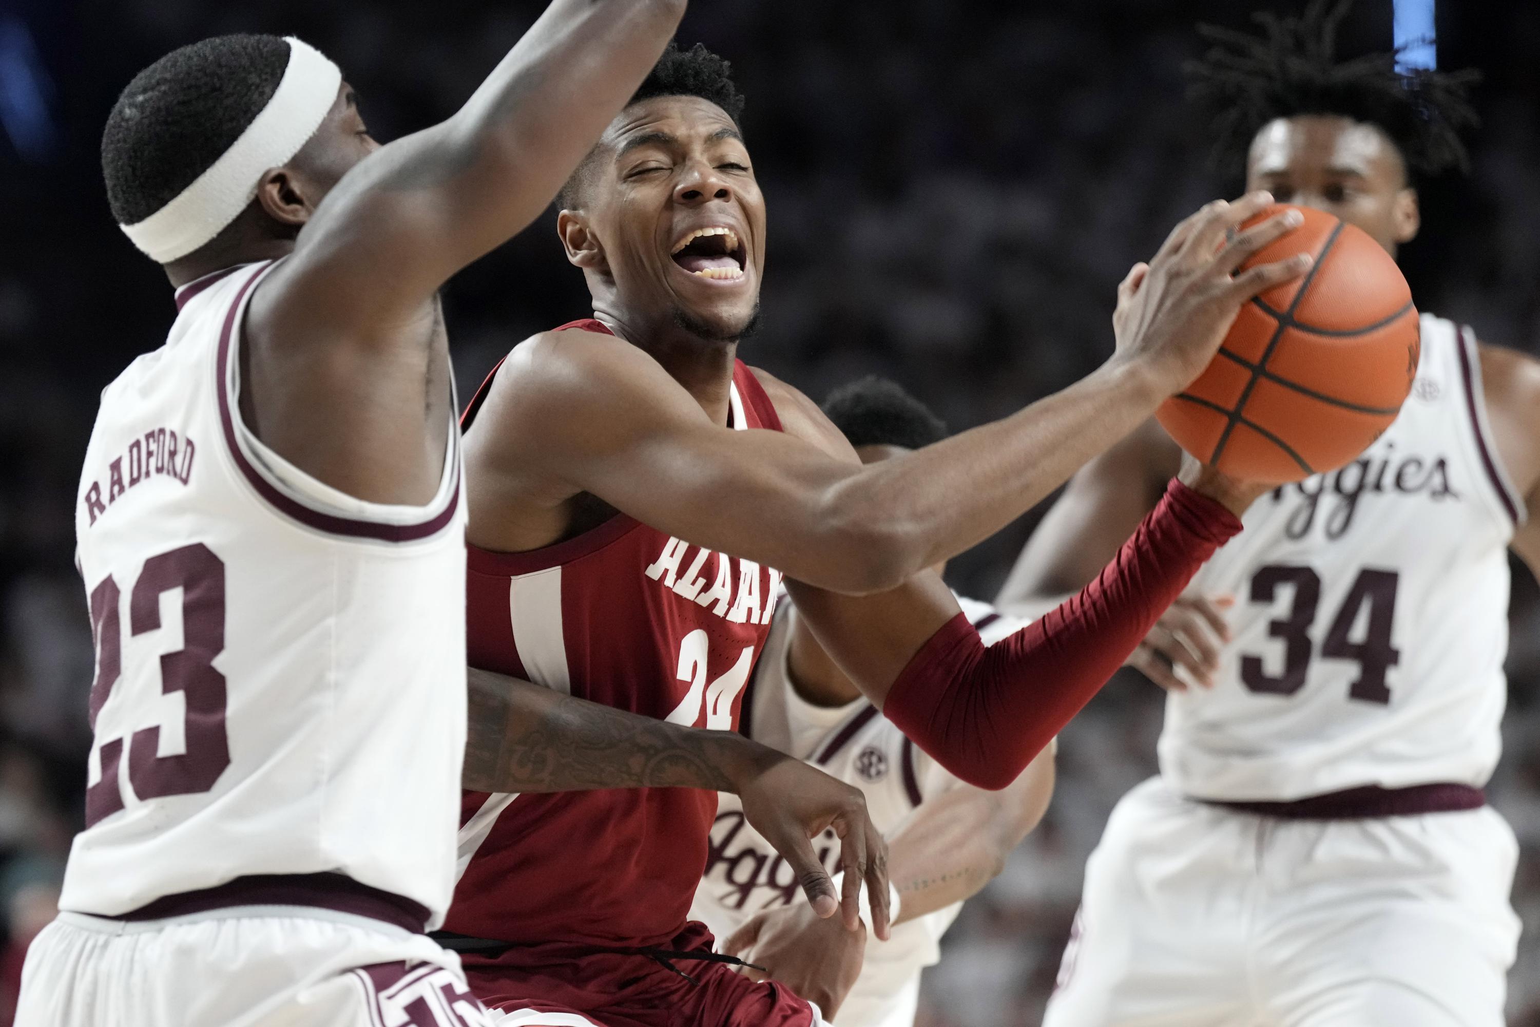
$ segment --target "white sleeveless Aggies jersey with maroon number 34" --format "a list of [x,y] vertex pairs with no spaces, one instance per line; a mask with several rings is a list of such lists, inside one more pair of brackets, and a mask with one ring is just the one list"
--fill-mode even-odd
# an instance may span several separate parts
[[1212,691],[1167,697],[1177,791],[1291,801],[1492,773],[1525,508],[1474,334],[1424,314],[1421,342],[1412,394],[1363,457],[1263,496],[1194,579],[1192,594],[1235,596],[1234,641]]

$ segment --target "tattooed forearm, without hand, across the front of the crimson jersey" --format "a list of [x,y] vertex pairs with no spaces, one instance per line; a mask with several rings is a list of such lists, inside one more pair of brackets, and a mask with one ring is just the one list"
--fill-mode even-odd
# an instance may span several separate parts
[[654,721],[474,667],[468,679],[462,784],[471,791],[736,791],[745,767],[779,758],[732,731]]

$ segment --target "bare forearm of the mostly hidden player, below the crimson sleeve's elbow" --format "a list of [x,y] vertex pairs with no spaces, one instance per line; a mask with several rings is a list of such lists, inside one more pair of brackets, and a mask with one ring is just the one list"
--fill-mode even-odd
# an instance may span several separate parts
[[998,878],[1052,796],[1053,756],[1046,751],[1006,791],[955,788],[921,805],[889,842],[889,876],[899,896],[895,922],[969,899]]

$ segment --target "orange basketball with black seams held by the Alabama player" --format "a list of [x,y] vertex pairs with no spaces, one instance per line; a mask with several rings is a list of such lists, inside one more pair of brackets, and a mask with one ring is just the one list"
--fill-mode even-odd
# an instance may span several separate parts
[[1157,411],[1183,450],[1258,482],[1357,459],[1395,420],[1421,353],[1412,291],[1391,254],[1331,214],[1300,212],[1303,225],[1243,268],[1311,253],[1309,273],[1241,306],[1207,370]]

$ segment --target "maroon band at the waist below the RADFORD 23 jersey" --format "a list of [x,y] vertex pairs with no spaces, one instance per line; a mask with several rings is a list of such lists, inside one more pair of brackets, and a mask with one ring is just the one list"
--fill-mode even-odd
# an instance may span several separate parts
[[371,888],[340,873],[263,873],[236,878],[213,888],[165,895],[112,921],[162,921],[171,916],[208,913],[242,905],[308,905],[334,913],[367,916],[420,935],[428,927],[428,907],[408,898]]

